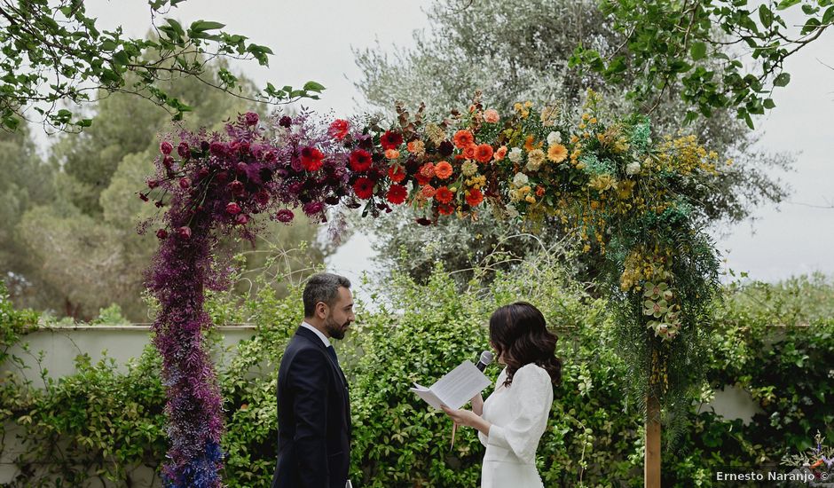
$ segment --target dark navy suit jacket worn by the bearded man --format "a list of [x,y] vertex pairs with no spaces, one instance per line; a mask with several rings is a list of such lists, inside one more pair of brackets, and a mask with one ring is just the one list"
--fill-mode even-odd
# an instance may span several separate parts
[[278,465],[272,488],[344,488],[350,433],[342,368],[318,335],[298,327],[278,373]]

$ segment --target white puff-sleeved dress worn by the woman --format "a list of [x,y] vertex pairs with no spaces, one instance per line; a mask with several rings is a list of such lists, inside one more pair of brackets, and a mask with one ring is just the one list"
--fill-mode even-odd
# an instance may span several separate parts
[[481,488],[543,488],[536,448],[553,404],[550,375],[543,367],[528,364],[515,371],[509,387],[504,386],[506,379],[505,369],[484,401],[482,416],[492,427],[489,437],[478,433],[486,446]]

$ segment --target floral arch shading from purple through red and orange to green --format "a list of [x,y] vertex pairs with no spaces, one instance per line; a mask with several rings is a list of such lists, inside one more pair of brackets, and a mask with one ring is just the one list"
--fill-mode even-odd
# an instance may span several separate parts
[[412,205],[425,225],[485,211],[560,224],[601,253],[602,288],[632,366],[626,381],[645,399],[646,483],[659,486],[660,405],[675,406],[691,384],[718,287],[696,188],[720,161],[694,137],[656,142],[645,117],[610,120],[601,106],[589,91],[578,116],[529,102],[499,114],[477,93],[439,121],[427,121],[424,106],[413,115],[397,106],[390,125],[249,113],[223,132],[163,141],[139,196],[168,207],[147,276],[161,305],[153,330],[168,398],[166,484],[221,485],[222,401],[203,340],[212,327],[204,290],[230,285],[213,266],[217,240],[254,239],[256,216],[288,223],[300,209],[324,221],[339,205],[363,216]]

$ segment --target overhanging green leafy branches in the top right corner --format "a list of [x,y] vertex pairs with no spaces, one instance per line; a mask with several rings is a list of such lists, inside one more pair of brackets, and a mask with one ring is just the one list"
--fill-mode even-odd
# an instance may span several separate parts
[[[781,11],[800,3],[799,27],[789,28]],[[791,81],[785,59],[819,38],[834,19],[830,0],[783,0],[776,12],[773,3],[756,4],[605,0],[602,13],[613,23],[617,42],[604,49],[580,43],[570,66],[587,67],[606,83],[627,87],[629,98],[655,107],[665,91],[680,93],[689,122],[729,108],[753,129],[751,115],[774,108],[774,88]],[[752,69],[731,47],[741,43],[751,50]]]

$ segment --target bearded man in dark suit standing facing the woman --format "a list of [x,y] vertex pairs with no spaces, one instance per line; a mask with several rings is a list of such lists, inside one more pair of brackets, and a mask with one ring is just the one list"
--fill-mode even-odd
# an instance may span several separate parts
[[313,275],[304,287],[304,321],[278,371],[278,465],[272,488],[350,487],[348,382],[329,338],[356,317],[350,281]]

